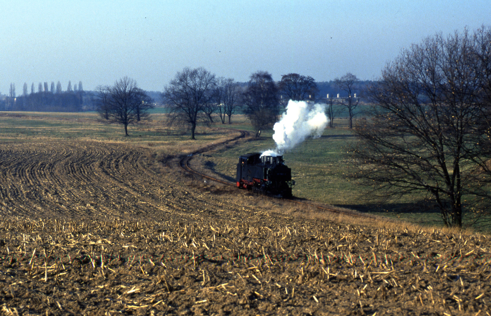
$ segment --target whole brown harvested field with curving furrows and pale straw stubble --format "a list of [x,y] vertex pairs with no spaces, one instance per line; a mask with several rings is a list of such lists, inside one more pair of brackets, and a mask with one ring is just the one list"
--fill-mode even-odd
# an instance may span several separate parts
[[1,144],[0,311],[491,314],[488,238],[274,214],[156,163],[97,142]]

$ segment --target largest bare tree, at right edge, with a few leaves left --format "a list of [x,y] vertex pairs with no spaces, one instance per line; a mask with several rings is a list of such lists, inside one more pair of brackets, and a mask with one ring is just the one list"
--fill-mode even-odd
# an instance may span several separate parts
[[355,127],[355,176],[381,196],[431,199],[447,226],[491,210],[490,125],[483,115],[491,68],[480,62],[491,58],[491,37],[484,50],[478,37],[467,30],[439,34],[404,49],[369,89],[376,106]]

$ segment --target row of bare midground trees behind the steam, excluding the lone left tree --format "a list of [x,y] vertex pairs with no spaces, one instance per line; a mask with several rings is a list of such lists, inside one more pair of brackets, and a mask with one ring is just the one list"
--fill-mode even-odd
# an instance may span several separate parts
[[[354,90],[357,78],[351,75],[349,79],[354,82],[347,83],[344,76],[336,80],[336,85],[341,89],[348,86],[350,91]],[[259,137],[264,129],[271,128],[278,120],[289,100],[323,101],[317,98],[318,94],[316,81],[297,73],[283,75],[279,82],[274,82],[269,72],[257,71],[251,74],[246,85],[241,85],[231,78],[217,78],[202,67],[186,67],[177,72],[164,88],[162,99],[170,110],[169,124],[188,126],[191,139],[195,139],[198,124],[214,122],[214,114],[225,124],[226,121],[230,123],[230,117],[237,111],[247,115],[256,137]],[[349,94],[347,103],[343,98],[335,103],[349,105],[350,122],[359,98],[352,102],[354,99],[355,96]],[[334,118],[336,112],[331,112],[330,117]]]

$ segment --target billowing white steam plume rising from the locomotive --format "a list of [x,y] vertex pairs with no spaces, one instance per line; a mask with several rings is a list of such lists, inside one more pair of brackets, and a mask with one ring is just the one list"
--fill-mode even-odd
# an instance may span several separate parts
[[312,105],[304,101],[290,100],[286,112],[273,127],[276,148],[266,150],[262,156],[282,155],[308,136],[320,137],[329,121],[325,107],[323,104]]

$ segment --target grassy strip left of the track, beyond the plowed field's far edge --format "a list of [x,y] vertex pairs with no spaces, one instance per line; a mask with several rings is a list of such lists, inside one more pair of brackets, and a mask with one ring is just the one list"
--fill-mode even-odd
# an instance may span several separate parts
[[198,128],[197,140],[191,141],[186,130],[169,130],[164,120],[165,114],[152,114],[150,121],[128,126],[130,137],[124,137],[122,125],[106,124],[95,112],[0,112],[0,140],[78,139],[151,147],[157,152],[177,155],[191,152],[214,140],[225,139],[229,135],[229,132],[217,127]]

